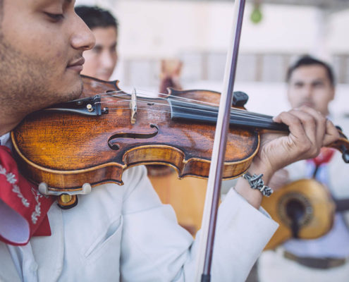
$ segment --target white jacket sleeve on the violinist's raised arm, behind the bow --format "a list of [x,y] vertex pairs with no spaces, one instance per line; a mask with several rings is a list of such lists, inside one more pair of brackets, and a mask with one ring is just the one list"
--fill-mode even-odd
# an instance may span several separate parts
[[[121,281],[195,281],[198,242],[178,226],[171,206],[161,204],[145,168],[128,173],[128,180],[133,185],[123,202]],[[276,228],[231,190],[219,208],[212,281],[245,281]]]

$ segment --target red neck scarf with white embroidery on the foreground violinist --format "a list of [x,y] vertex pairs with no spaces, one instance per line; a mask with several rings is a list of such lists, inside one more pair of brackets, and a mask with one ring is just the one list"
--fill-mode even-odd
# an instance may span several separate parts
[[20,175],[11,150],[0,145],[0,240],[26,245],[32,236],[51,235],[47,212],[54,201]]

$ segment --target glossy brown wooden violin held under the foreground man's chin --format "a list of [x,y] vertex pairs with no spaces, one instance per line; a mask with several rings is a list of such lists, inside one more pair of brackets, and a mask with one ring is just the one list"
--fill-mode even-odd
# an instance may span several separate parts
[[[95,185],[122,185],[123,171],[140,164],[171,166],[179,178],[207,178],[219,92],[170,90],[154,98],[123,92],[118,81],[82,76],[82,82],[81,99],[32,113],[11,133],[21,171],[40,192],[71,207],[75,195]],[[245,111],[246,96],[235,93],[231,108],[224,179],[247,171],[261,130],[288,131],[271,116]],[[344,135],[332,147],[349,161]]]

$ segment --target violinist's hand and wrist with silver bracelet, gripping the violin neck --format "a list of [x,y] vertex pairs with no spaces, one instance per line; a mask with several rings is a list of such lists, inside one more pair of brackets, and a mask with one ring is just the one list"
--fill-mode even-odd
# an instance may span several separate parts
[[[263,173],[265,185],[278,169],[301,159],[316,157],[321,147],[339,138],[333,123],[307,106],[283,112],[274,121],[288,125],[290,133],[264,133],[259,152],[248,170],[251,175]],[[239,179],[235,190],[254,207],[260,206],[262,194],[258,190],[252,190],[247,180]]]

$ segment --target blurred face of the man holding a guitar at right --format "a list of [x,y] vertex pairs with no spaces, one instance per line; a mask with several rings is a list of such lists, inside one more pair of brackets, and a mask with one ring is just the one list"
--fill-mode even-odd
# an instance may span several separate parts
[[327,115],[333,97],[334,87],[324,66],[300,66],[290,76],[288,101],[292,108],[305,105]]

